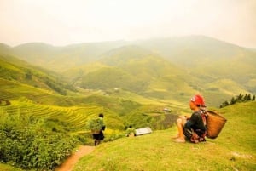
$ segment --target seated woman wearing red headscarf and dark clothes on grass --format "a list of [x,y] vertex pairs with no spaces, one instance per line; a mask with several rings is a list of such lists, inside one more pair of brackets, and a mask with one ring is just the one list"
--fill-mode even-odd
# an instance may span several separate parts
[[205,101],[201,95],[195,95],[189,101],[189,106],[193,113],[191,117],[179,117],[177,119],[178,134],[173,139],[175,142],[185,142],[185,137],[194,143],[206,141]]

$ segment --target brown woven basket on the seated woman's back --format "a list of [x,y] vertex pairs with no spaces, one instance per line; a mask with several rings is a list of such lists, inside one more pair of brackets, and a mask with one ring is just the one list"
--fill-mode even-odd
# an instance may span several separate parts
[[216,139],[226,119],[214,111],[207,111],[207,138]]

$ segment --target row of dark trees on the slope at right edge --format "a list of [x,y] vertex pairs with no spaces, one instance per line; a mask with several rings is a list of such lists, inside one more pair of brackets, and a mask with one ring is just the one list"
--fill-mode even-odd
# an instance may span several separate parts
[[219,108],[223,108],[224,106],[227,105],[234,105],[236,103],[241,103],[241,102],[246,102],[246,101],[254,101],[255,100],[255,95],[251,94],[239,94],[236,95],[236,97],[232,97],[230,102],[229,101],[224,101],[221,105],[219,105]]

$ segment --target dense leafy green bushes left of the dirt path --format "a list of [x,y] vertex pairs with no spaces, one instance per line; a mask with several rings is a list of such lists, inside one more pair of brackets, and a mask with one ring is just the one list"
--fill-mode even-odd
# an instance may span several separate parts
[[44,129],[44,120],[19,114],[0,117],[0,162],[26,170],[53,170],[71,155],[77,140]]

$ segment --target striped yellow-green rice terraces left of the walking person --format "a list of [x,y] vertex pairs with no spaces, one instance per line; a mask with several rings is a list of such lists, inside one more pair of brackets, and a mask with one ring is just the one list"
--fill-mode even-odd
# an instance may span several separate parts
[[3,113],[14,115],[28,115],[57,119],[73,125],[74,130],[84,128],[88,117],[102,112],[102,107],[97,105],[61,107],[54,105],[35,104],[26,98],[10,101],[10,105],[0,105],[0,116]]

